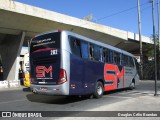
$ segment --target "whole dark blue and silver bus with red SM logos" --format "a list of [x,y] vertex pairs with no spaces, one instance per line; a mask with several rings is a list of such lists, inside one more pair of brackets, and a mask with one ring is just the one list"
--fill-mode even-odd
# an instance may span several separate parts
[[139,81],[132,54],[65,30],[31,39],[30,76],[33,93],[95,98]]

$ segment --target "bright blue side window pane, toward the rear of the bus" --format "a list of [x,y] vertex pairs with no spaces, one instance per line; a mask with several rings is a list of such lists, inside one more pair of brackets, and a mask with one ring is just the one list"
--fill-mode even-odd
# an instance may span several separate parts
[[82,53],[82,58],[88,59],[88,43],[87,42],[81,42],[81,53]]

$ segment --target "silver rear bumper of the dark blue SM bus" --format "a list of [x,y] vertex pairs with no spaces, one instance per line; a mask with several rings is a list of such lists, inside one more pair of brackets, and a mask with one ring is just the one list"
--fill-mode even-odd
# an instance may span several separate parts
[[65,85],[30,85],[30,89],[35,94],[47,95],[69,95]]

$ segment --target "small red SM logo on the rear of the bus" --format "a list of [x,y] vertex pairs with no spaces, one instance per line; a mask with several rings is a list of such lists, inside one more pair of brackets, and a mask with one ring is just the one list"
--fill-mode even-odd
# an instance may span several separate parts
[[46,75],[49,75],[49,77],[52,77],[52,66],[49,66],[48,68],[46,68],[45,66],[36,66],[37,78],[43,78],[43,77],[46,77]]

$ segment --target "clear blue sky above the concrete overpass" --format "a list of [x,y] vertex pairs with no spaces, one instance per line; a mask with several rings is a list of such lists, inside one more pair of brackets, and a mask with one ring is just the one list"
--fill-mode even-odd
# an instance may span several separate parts
[[[50,11],[83,19],[93,15],[92,22],[138,34],[137,0],[16,0]],[[151,0],[140,0],[142,35],[153,34]],[[158,13],[155,0],[155,26],[158,33]]]

